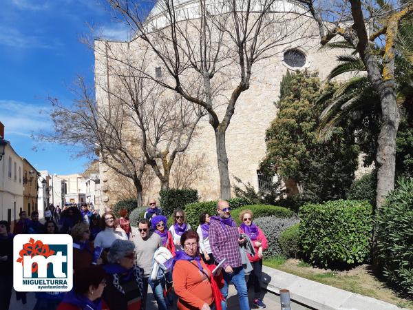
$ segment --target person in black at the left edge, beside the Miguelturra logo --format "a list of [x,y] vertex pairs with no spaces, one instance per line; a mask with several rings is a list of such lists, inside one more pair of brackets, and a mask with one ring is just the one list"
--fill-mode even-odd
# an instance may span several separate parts
[[13,235],[6,220],[0,220],[0,309],[9,309],[13,287]]

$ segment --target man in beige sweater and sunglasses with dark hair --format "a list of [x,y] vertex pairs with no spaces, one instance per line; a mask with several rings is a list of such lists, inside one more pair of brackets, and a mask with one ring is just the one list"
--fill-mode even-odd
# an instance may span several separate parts
[[160,280],[150,281],[149,276],[152,270],[152,260],[155,251],[162,247],[162,240],[158,234],[154,234],[149,229],[149,220],[144,218],[138,223],[138,234],[132,234],[131,241],[135,243],[136,249],[136,265],[143,269],[143,294],[142,294],[142,309],[146,307],[148,285],[151,285],[153,295],[158,303],[158,309],[167,310],[167,302],[163,295],[163,287],[165,282]]

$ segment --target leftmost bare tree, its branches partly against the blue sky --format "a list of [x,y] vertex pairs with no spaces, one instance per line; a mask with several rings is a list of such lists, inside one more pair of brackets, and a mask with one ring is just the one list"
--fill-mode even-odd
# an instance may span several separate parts
[[97,153],[105,165],[133,182],[137,205],[142,206],[142,176],[147,160],[137,152],[136,145],[140,145],[140,138],[129,133],[127,111],[121,105],[98,107],[94,91],[87,87],[81,76],[73,92],[77,99],[70,107],[63,105],[59,99],[50,98],[54,132],[41,132],[39,137],[76,147],[78,156]]

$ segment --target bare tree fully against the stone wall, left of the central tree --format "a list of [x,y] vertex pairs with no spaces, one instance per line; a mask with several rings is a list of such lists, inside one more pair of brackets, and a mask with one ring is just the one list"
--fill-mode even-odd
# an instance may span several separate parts
[[[147,78],[147,56],[130,56],[129,44],[116,46],[105,43],[107,53],[117,57],[107,63],[109,82],[97,83],[110,98],[110,103],[123,107],[134,134],[140,138],[140,149],[160,180],[161,189],[169,188],[171,168],[177,154],[185,152],[195,127],[206,114],[179,94],[168,92]],[[105,106],[105,103],[101,104]],[[106,107],[105,107],[106,108]]]

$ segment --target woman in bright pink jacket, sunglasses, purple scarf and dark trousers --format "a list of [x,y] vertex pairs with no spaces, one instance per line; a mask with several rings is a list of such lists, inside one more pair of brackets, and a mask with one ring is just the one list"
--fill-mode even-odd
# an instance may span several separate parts
[[242,222],[239,228],[240,234],[246,234],[253,242],[255,255],[248,254],[248,260],[253,265],[253,271],[248,277],[247,287],[254,287],[253,306],[265,308],[261,296],[262,282],[262,252],[267,248],[267,240],[260,228],[253,223],[253,211],[246,209],[240,213],[240,221]]

